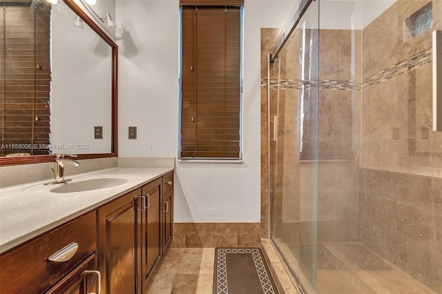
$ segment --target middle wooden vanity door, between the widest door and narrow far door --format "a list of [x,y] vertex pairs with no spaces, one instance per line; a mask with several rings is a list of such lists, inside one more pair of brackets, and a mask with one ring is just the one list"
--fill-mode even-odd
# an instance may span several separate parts
[[146,286],[149,274],[161,255],[161,213],[160,188],[162,179],[157,179],[142,187],[142,195],[146,197],[146,209],[142,211],[142,233],[140,236],[142,250],[142,279],[143,288]]

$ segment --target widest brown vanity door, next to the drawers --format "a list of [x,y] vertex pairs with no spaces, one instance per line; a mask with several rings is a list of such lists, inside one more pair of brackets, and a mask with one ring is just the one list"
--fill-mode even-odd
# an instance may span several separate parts
[[137,293],[137,196],[140,190],[98,209],[98,268],[102,293]]

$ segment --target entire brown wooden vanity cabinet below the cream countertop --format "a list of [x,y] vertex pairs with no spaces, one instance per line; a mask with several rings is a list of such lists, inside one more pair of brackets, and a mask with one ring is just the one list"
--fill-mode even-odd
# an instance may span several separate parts
[[173,172],[0,255],[0,293],[144,293],[172,233]]

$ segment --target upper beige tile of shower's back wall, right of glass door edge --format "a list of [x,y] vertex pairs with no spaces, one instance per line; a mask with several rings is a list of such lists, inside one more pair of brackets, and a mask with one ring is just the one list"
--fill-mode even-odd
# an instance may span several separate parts
[[[361,31],[320,30],[320,81],[361,81]],[[361,91],[320,87],[319,158],[355,159]]]

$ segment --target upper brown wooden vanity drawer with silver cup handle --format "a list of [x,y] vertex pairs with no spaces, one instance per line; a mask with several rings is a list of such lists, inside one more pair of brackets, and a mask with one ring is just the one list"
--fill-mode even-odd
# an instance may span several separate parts
[[[0,293],[43,293],[90,253],[97,235],[95,210],[0,257]],[[64,262],[48,259],[77,243],[75,254]]]

